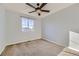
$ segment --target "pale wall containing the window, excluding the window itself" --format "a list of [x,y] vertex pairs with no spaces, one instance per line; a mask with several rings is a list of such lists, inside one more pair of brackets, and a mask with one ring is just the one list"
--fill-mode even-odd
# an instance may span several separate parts
[[29,17],[34,19],[34,31],[22,32],[20,16],[29,17],[28,15],[6,10],[7,44],[15,44],[41,38],[41,20]]

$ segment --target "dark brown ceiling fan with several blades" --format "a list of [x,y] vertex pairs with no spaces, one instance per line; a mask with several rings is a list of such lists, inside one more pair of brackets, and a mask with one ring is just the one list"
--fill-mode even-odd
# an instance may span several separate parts
[[[25,4],[35,9],[34,11],[31,11],[31,12],[29,12],[29,13],[37,12],[38,10],[41,11],[41,12],[50,12],[49,10],[42,10],[42,8],[43,8],[47,3],[42,3],[41,5],[40,5],[40,3],[37,3],[37,4],[36,4],[37,7],[34,7],[34,6],[31,5],[30,3],[25,3]],[[41,15],[41,14],[38,13],[38,16],[40,16],[40,15]]]

